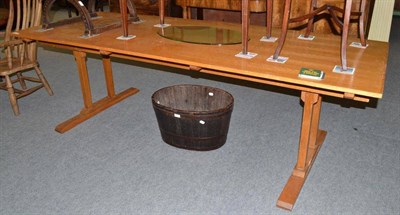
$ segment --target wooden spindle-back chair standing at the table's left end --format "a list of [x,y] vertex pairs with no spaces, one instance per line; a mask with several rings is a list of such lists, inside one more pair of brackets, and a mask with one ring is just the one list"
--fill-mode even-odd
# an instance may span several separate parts
[[[13,31],[38,26],[40,18],[41,0],[17,0],[16,9],[14,9],[13,0],[10,0],[4,41],[0,43],[0,48],[4,50],[0,55],[0,77],[2,79],[0,89],[8,91],[10,103],[16,116],[20,114],[17,99],[42,87],[47,90],[49,95],[53,95],[53,91],[36,59],[36,42],[21,40],[14,36],[18,33],[12,34]],[[35,71],[37,77],[23,74],[32,70]],[[16,87],[17,82],[20,85],[19,88]],[[33,84],[31,84],[32,82]]]

